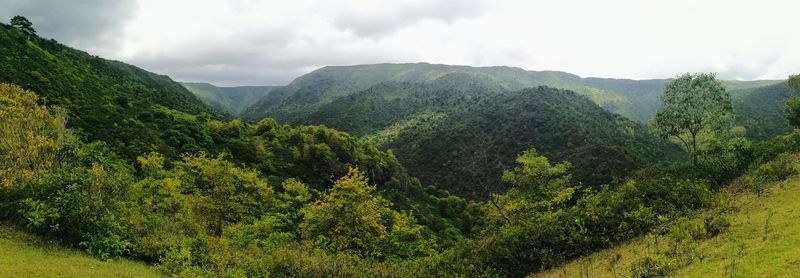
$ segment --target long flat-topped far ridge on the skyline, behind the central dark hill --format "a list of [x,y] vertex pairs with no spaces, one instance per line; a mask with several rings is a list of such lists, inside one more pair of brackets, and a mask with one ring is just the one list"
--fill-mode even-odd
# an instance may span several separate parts
[[381,82],[420,83],[432,81],[451,73],[489,78],[508,91],[536,86],[569,89],[588,96],[610,111],[634,119],[645,117],[645,115],[635,112],[634,108],[639,106],[635,99],[627,99],[620,92],[586,86],[582,84],[582,78],[565,72],[428,63],[324,67],[298,77],[285,88],[274,91],[245,110],[242,117],[251,121],[266,116],[278,120],[300,119],[320,105],[363,91]]

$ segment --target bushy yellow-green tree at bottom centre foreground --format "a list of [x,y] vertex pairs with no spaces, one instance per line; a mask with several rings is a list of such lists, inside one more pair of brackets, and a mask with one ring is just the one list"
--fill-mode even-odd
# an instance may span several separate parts
[[325,196],[306,207],[300,230],[304,239],[331,252],[372,258],[425,252],[422,226],[389,206],[364,174],[351,168]]

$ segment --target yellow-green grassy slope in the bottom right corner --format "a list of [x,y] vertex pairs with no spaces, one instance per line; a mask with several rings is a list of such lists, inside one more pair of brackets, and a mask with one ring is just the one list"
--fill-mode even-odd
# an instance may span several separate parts
[[730,213],[730,227],[719,235],[679,239],[682,233],[692,233],[686,223],[703,223],[707,213],[719,213],[718,210],[701,212],[685,222],[668,226],[666,235],[654,232],[530,276],[631,277],[637,263],[659,258],[661,261],[652,268],[664,272],[652,273],[672,277],[795,277],[800,274],[800,266],[795,263],[800,256],[797,250],[800,223],[796,221],[800,156],[789,155],[785,159],[790,170],[788,178],[767,181],[762,184],[763,189],[753,192],[748,190],[747,182],[758,180],[759,172],[754,171],[723,193],[730,195],[720,204]]

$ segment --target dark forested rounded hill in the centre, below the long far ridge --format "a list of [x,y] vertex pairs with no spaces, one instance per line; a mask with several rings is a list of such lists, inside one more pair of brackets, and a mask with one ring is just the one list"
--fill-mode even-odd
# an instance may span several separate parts
[[467,73],[380,83],[321,105],[298,123],[365,136],[392,150],[423,183],[462,196],[504,190],[502,169],[530,147],[570,161],[587,185],[676,153],[586,96],[548,87],[508,91],[490,76]]

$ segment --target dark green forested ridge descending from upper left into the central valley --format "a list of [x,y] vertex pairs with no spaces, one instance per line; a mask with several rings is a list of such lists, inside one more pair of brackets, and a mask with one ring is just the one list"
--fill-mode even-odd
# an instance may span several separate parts
[[[257,170],[266,180],[296,179],[319,191],[357,168],[398,208],[419,212],[420,222],[439,230],[451,227],[452,219],[443,219],[435,210],[438,197],[446,194],[423,188],[393,154],[347,133],[272,119],[244,123],[215,113],[167,76],[28,36],[5,24],[0,25],[0,50],[8,53],[0,67],[0,84],[21,86],[40,95],[45,105],[63,109],[69,133],[110,148],[101,155],[119,155],[127,163],[148,153],[172,160],[219,156]],[[236,101],[249,101],[275,88],[221,90],[242,97]],[[452,201],[464,202],[444,202]]]

